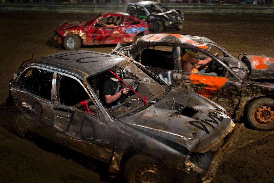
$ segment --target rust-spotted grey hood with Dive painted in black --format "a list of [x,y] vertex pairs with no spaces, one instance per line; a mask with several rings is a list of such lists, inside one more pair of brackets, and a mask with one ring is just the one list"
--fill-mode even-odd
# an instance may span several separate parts
[[167,139],[199,153],[221,142],[235,126],[221,106],[181,88],[172,88],[156,104],[120,120],[146,135],[160,137],[162,143]]

